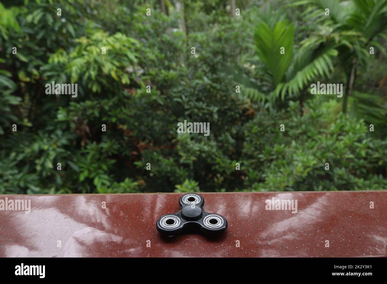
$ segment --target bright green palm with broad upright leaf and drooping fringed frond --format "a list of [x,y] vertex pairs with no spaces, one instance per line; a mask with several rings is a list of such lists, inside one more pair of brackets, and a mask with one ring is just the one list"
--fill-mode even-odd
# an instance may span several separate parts
[[[300,90],[304,90],[311,80],[330,77],[333,70],[331,58],[337,56],[335,49],[319,48],[318,44],[309,42],[301,43],[302,47],[294,54],[293,23],[280,19],[279,13],[274,16],[274,19],[279,19],[276,23],[272,17],[261,15],[267,23],[260,22],[254,33],[257,54],[272,76],[274,91],[269,97],[271,102],[279,97],[284,100],[286,94],[288,97],[300,96]],[[262,96],[258,93],[253,97]]]

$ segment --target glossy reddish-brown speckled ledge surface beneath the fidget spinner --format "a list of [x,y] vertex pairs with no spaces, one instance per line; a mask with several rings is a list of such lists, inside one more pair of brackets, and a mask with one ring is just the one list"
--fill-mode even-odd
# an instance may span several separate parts
[[[0,257],[387,255],[387,191],[202,193],[203,209],[227,219],[226,232],[217,238],[195,233],[161,237],[156,221],[180,210],[180,196],[0,196],[31,199],[29,214],[0,210]],[[266,210],[265,200],[272,197],[297,199],[297,213]]]

